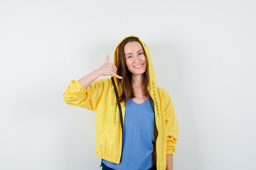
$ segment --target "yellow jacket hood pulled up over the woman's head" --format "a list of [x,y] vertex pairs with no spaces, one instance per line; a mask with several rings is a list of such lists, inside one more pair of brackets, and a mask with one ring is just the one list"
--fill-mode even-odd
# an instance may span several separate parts
[[[159,116],[159,109],[158,109],[158,103],[157,101],[159,101],[159,96],[158,96],[158,92],[157,92],[157,84],[155,82],[155,74],[154,74],[154,70],[153,70],[153,65],[150,59],[150,54],[148,51],[148,47],[146,46],[146,44],[137,36],[135,35],[130,35],[125,37],[123,40],[121,40],[121,42],[118,44],[117,48],[115,49],[115,53],[114,53],[114,64],[117,67],[118,63],[118,54],[119,54],[119,46],[120,44],[126,39],[126,38],[130,38],[130,37],[135,37],[138,38],[139,41],[141,42],[141,44],[143,45],[144,49],[145,49],[145,53],[146,56],[148,57],[148,71],[149,71],[149,79],[150,79],[150,88],[148,87],[150,96],[152,97],[154,103],[155,103],[155,112],[157,112],[158,116]],[[117,77],[114,76],[115,82],[117,82]]]

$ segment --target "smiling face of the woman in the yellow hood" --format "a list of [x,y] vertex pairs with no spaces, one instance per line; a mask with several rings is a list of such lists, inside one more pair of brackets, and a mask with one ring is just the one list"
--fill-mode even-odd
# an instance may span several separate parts
[[141,75],[146,71],[146,58],[139,42],[128,42],[124,46],[126,66],[134,75]]

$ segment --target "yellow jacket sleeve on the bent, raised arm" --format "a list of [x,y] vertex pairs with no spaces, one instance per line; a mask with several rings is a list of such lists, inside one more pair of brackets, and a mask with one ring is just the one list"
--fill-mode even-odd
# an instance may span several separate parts
[[63,100],[72,106],[79,106],[95,111],[103,91],[103,81],[101,79],[94,81],[84,88],[78,80],[71,80],[63,93]]

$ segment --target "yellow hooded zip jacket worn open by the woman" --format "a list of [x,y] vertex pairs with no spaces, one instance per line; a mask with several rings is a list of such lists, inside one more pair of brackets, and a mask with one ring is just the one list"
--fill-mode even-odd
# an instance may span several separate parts
[[[141,41],[140,38],[138,39]],[[150,89],[150,96],[154,102],[157,170],[166,170],[166,154],[173,155],[175,152],[179,128],[171,98],[163,88],[156,85],[148,48],[144,42],[141,41],[141,43],[148,57],[150,75],[150,88],[148,89]],[[115,66],[118,61],[119,45],[114,54]],[[117,78],[112,77],[112,79],[117,84]],[[98,79],[88,88],[81,86],[78,80],[72,80],[63,94],[63,99],[69,105],[80,106],[96,112],[96,154],[101,159],[118,164],[122,152],[125,103],[120,103],[121,112],[119,112],[112,79]],[[118,86],[117,91],[120,93]],[[123,121],[122,124],[121,121]]]

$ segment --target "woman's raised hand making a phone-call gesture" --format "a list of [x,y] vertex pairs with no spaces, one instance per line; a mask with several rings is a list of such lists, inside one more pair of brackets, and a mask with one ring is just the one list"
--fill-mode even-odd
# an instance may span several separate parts
[[108,63],[109,61],[109,56],[106,54],[106,60],[103,63],[103,65],[97,69],[97,71],[101,74],[101,75],[113,75],[119,79],[122,79],[123,77],[117,75],[117,67],[115,66],[114,63]]

